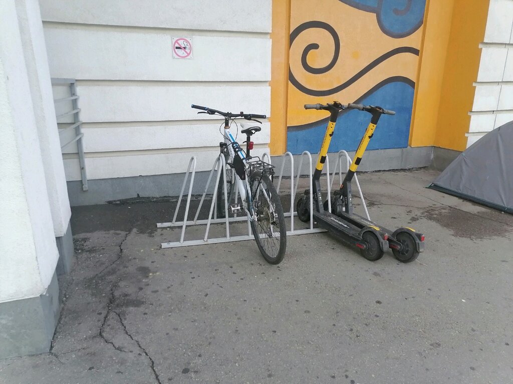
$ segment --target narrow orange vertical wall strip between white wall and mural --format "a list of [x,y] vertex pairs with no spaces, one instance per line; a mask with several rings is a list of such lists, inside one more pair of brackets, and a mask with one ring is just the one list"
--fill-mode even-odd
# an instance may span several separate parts
[[272,2],[271,155],[282,155],[287,145],[290,0]]

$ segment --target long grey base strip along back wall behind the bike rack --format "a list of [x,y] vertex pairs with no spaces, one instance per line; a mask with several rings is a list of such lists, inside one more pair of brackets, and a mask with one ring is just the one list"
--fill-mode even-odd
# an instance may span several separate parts
[[[385,170],[426,167],[431,164],[433,147],[407,147],[390,150],[367,151],[359,170]],[[329,154],[331,166],[337,154]],[[349,155],[354,156],[354,152]],[[271,162],[281,166],[282,157],[272,156]],[[306,161],[306,160],[305,160]],[[312,165],[315,166],[317,156],[312,154]],[[285,166],[284,175],[290,175],[289,162]],[[294,156],[294,165],[299,164],[299,155]],[[306,163],[305,163],[306,164]],[[287,168],[288,166],[288,168]],[[305,168],[306,169],[306,168]],[[331,168],[332,169],[332,168]],[[196,173],[193,194],[202,194],[210,171]],[[305,170],[306,174],[306,170]],[[68,182],[68,195],[71,206],[105,204],[110,200],[129,199],[138,196],[162,197],[178,196],[185,174],[168,174],[154,176],[137,176],[116,179],[89,180],[89,190],[82,190],[81,181]]]

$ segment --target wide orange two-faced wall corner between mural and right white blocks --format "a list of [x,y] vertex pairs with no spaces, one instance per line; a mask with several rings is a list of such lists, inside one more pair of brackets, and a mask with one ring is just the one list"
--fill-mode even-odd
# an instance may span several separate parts
[[466,147],[489,0],[429,0],[410,145]]

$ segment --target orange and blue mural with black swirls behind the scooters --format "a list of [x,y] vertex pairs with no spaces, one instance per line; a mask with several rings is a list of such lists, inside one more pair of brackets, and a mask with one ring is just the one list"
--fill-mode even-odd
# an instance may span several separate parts
[[[287,151],[317,153],[326,113],[304,104],[380,105],[383,117],[368,149],[408,145],[425,0],[293,0]],[[356,150],[368,114],[342,111],[330,152]]]

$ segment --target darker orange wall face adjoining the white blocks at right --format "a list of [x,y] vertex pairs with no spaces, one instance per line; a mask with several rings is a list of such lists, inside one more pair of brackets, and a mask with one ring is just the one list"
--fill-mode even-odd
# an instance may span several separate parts
[[[431,0],[432,1],[432,0]],[[489,0],[455,0],[445,61],[435,146],[464,151]]]

